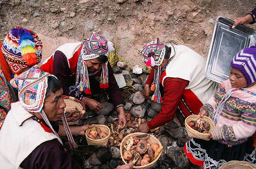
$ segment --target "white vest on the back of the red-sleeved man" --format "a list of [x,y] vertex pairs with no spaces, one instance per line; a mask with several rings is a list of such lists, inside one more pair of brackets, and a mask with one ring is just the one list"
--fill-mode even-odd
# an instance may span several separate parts
[[166,77],[188,80],[185,90],[190,89],[204,104],[218,90],[219,84],[207,79],[204,75],[206,60],[197,52],[184,45],[166,44],[175,56],[166,68]]

